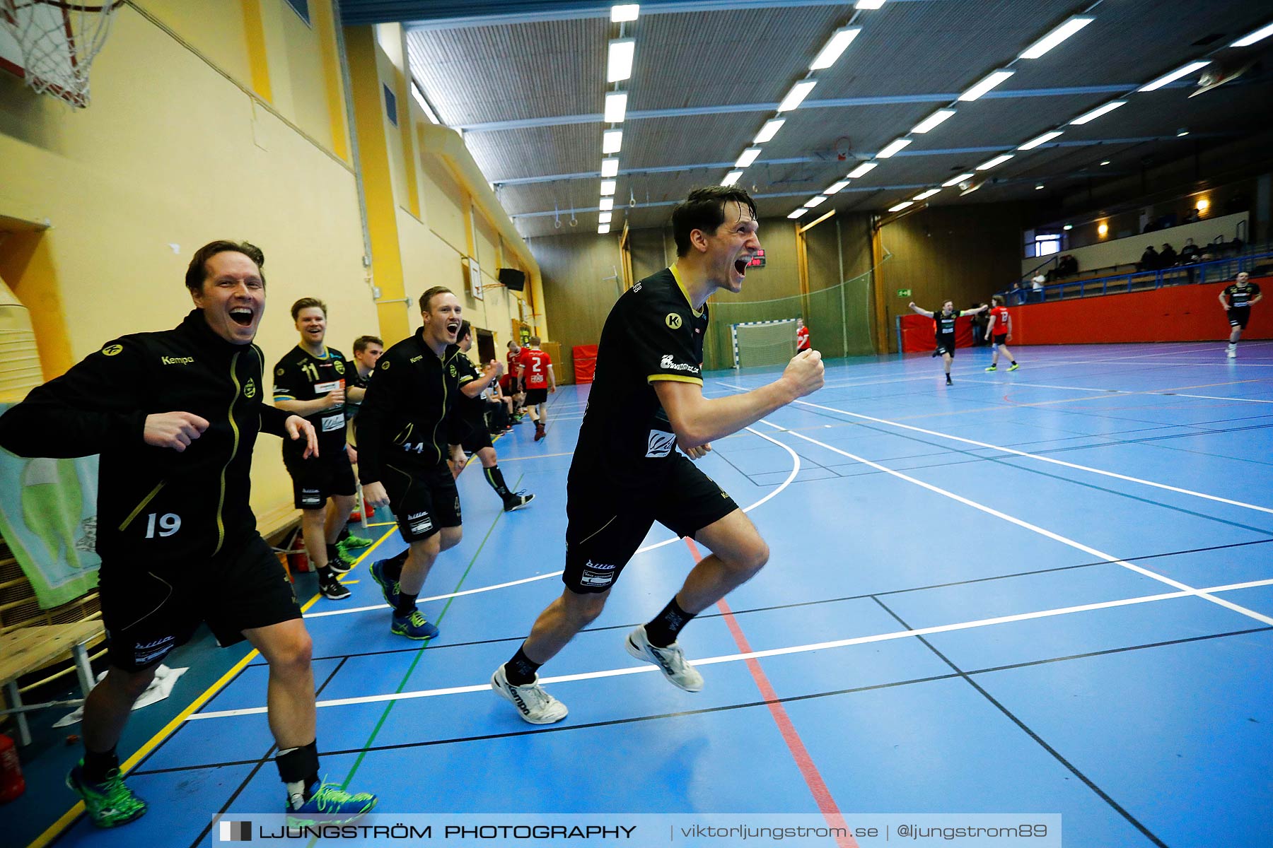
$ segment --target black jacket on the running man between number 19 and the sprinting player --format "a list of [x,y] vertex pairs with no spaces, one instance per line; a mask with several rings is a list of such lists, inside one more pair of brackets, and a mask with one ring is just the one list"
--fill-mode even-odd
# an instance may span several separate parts
[[442,359],[424,343],[424,329],[384,351],[354,420],[358,475],[384,479],[384,465],[433,468],[447,458],[449,417],[460,394],[460,352],[448,345]]

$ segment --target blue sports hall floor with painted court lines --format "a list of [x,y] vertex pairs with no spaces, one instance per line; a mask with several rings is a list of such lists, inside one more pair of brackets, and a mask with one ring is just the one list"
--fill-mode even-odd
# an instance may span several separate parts
[[[682,633],[705,688],[622,647],[694,564],[656,525],[542,670],[570,715],[536,727],[488,679],[561,591],[587,400],[564,386],[544,441],[524,423],[495,442],[533,505],[503,514],[476,463],[461,475],[465,538],[421,594],[433,643],[390,633],[368,577],[402,548],[391,525],[351,599],[298,580],[325,774],[378,812],[1034,812],[1060,814],[1071,848],[1273,845],[1273,342],[1015,353],[988,374],[987,348],[960,350],[952,386],[927,355],[836,360],[824,389],[717,441],[700,467],[771,557]],[[218,814],[280,811],[266,667],[205,648],[182,662],[202,679],[121,748],[141,751],[150,812],[97,831],[62,815],[61,764],[37,767],[47,815],[11,844],[62,816],[46,843],[210,845]]]

